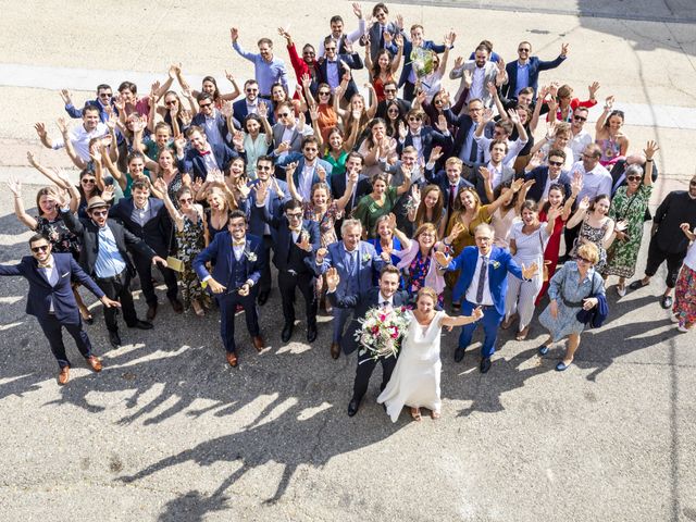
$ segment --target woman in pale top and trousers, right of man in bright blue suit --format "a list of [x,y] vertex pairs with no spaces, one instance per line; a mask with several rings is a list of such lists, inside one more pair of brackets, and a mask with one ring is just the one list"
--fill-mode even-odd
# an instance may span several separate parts
[[[548,222],[539,223],[538,206],[535,201],[522,203],[522,221],[512,225],[510,234],[510,253],[519,265],[530,266],[536,263],[544,266],[544,250],[548,238],[554,233],[556,217],[561,209],[555,207],[548,211]],[[534,315],[534,299],[544,285],[543,272],[538,271],[532,281],[522,281],[514,275],[508,277],[508,294],[505,298],[505,321],[501,327],[509,328],[519,315],[520,325],[515,338],[526,339],[530,323]]]

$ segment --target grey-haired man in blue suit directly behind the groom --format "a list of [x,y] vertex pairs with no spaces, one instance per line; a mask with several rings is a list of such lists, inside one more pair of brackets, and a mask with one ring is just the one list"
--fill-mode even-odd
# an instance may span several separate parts
[[[382,270],[384,261],[374,247],[368,241],[361,241],[362,224],[359,220],[345,220],[340,226],[343,240],[332,243],[328,248],[316,251],[316,275],[321,276],[330,268],[335,268],[340,276],[340,284],[336,291],[339,298],[353,296],[372,288],[374,275]],[[388,254],[386,254],[388,257]],[[388,259],[388,258],[387,258]],[[331,344],[331,357],[338,359],[340,355],[340,339],[344,336],[346,321],[352,310],[348,308],[334,309],[334,337]]]

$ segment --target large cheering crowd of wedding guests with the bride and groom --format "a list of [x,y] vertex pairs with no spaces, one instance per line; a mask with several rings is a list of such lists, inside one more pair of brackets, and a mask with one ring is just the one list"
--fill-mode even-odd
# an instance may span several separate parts
[[[664,261],[661,306],[680,332],[693,328],[696,176],[650,215],[659,148],[631,142],[613,96],[604,98],[595,128],[585,128],[600,86],[591,84],[581,99],[562,83],[572,66],[567,44],[545,61],[521,41],[506,62],[484,40],[452,60],[453,32],[442,42],[426,39],[422,24],[390,17],[384,3],[371,13],[353,3],[352,11],[353,30],[333,16],[331,33],[301,52],[278,29],[290,67],[271,38],[252,52],[231,28],[232,48],[253,63],[243,86],[225,72],[232,89],[213,76],[196,89],[174,64],[142,97],[127,80],[115,91],[101,84],[77,108],[62,90],[77,122],[58,117],[61,136],[36,123],[41,144],[63,149],[79,170],[79,184],[27,154],[51,185],[30,214],[21,183],[9,184],[17,217],[36,234],[32,256],[0,266],[0,275],[29,281],[27,313],[49,339],[61,384],[70,370],[62,326],[101,370],[82,326],[94,318],[79,287],[103,302],[117,348],[119,309],[127,327],[153,327],[156,266],[175,313],[220,314],[232,366],[245,344],[235,335],[238,312],[252,346],[265,347],[259,313],[274,286],[271,264],[281,340],[293,339],[299,291],[308,343],[318,337],[320,308],[333,315],[334,359],[341,348],[359,349],[357,320],[370,307],[411,308],[398,360],[359,350],[350,415],[381,362],[380,401],[394,420],[403,405],[417,420],[420,407],[439,417],[443,326],[461,327],[457,362],[483,326],[486,373],[499,330],[515,327],[524,340],[544,307],[538,321],[549,337],[538,351],[568,338],[556,366],[563,371],[583,330],[608,313],[612,277],[623,297],[648,285]],[[461,78],[455,94],[443,88],[446,74]],[[650,219],[645,276],[629,283]],[[133,302],[136,276],[145,316]]]

